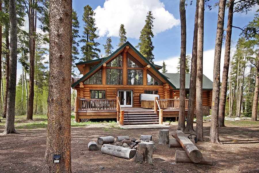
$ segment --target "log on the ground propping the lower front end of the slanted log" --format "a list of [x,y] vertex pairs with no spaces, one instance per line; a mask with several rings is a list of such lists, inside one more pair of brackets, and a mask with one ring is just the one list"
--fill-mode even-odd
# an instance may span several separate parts
[[[211,155],[209,153],[202,153],[202,160],[197,163],[201,165],[210,165],[212,166],[212,159]],[[194,163],[191,161],[191,159],[188,157],[185,151],[176,151],[175,152],[175,162],[176,163]]]

